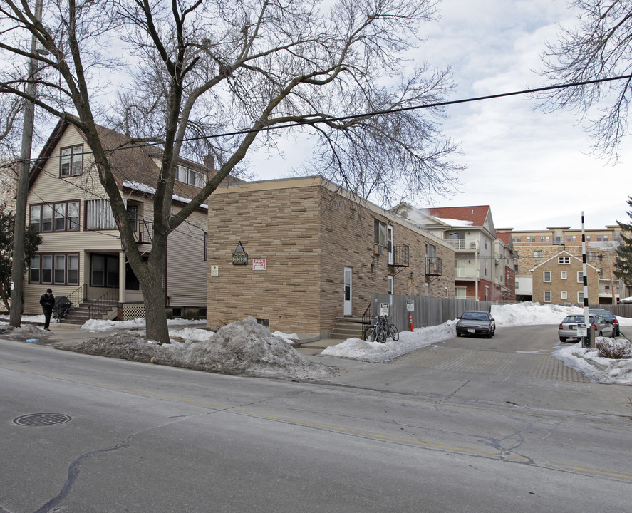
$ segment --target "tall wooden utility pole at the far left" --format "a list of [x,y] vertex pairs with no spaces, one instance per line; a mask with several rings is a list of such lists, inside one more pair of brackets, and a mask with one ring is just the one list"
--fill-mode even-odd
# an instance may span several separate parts
[[[42,18],[42,0],[35,0],[35,17]],[[37,38],[31,37],[31,55],[37,52]],[[31,57],[29,63],[29,81],[26,83],[26,95],[35,98],[37,91],[38,61]],[[24,102],[24,124],[22,125],[22,147],[16,190],[16,220],[13,239],[13,261],[11,262],[11,309],[9,324],[19,328],[24,309],[24,248],[26,245],[26,197],[29,195],[29,172],[31,171],[31,147],[33,145],[33,125],[35,123],[35,105],[29,100]]]

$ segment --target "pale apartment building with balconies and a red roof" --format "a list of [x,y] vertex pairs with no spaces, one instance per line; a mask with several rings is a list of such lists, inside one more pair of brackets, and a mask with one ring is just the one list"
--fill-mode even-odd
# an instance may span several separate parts
[[496,233],[489,205],[415,209],[402,203],[393,211],[455,249],[455,297],[515,299],[517,252],[511,237]]

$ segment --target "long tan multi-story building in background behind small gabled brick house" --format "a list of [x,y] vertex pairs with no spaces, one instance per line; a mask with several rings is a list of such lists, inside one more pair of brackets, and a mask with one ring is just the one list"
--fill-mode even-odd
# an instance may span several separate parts
[[[565,289],[568,281],[563,281],[560,273],[553,272],[551,285],[540,283],[536,279],[536,269],[541,271],[541,265],[549,259],[563,256],[562,252],[574,257],[582,263],[581,229],[570,227],[547,227],[544,230],[514,230],[512,228],[497,229],[499,234],[510,235],[513,245],[519,254],[516,267],[516,295],[517,299],[525,301],[547,301],[546,291],[558,290],[559,294],[551,296],[551,302],[564,304],[581,304],[576,291]],[[596,269],[598,279],[595,284],[589,284],[589,300],[596,304],[616,304],[621,297],[629,296],[613,274],[616,266],[616,248],[621,244],[621,228],[618,225],[608,225],[603,229],[585,229],[586,235],[586,264]],[[590,274],[590,271],[589,271]],[[544,289],[542,289],[544,286]],[[596,294],[592,289],[596,288]],[[546,290],[545,290],[546,289]],[[563,294],[563,293],[566,294]],[[572,293],[571,293],[572,292]],[[566,295],[566,299],[562,296]],[[546,296],[546,298],[545,298]]]

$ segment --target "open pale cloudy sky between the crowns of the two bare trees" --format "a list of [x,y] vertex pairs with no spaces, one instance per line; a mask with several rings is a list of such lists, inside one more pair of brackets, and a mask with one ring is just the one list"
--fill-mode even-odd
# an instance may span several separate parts
[[[458,87],[448,100],[543,86],[534,70],[545,42],[554,41],[558,24],[576,19],[566,0],[442,0],[440,10],[418,52],[452,67]],[[632,138],[611,165],[588,154],[591,141],[576,113],[544,113],[526,96],[454,105],[447,115],[445,133],[460,143],[457,160],[467,166],[460,192],[416,207],[489,204],[497,228],[580,228],[582,211],[586,228],[629,220]],[[303,150],[297,145],[286,160],[266,161],[258,177],[279,177],[300,164]]]

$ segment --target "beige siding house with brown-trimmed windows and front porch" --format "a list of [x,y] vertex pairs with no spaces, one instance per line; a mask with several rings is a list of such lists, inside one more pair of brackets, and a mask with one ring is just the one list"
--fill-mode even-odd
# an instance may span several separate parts
[[[103,129],[106,148],[123,135]],[[111,153],[119,190],[135,225],[137,243],[152,251],[152,180],[160,170],[156,150],[133,148]],[[25,314],[41,314],[38,304],[48,287],[73,304],[103,299],[110,318],[143,317],[143,291],[125,259],[107,195],[92,165],[88,145],[73,125],[58,123],[31,171],[27,223],[43,237],[25,280]],[[174,187],[173,209],[206,180],[212,170],[182,162]],[[199,209],[167,243],[165,306],[176,316],[204,315],[206,308],[207,209]]]

